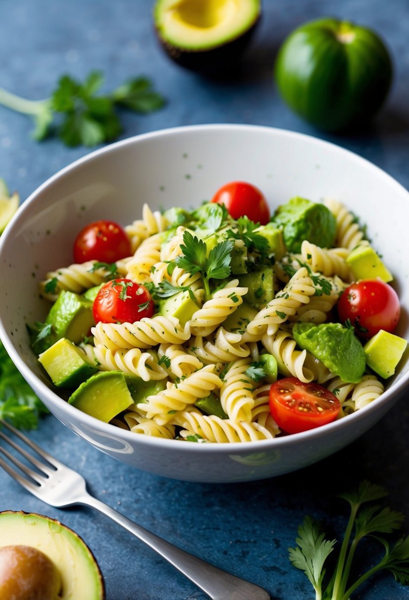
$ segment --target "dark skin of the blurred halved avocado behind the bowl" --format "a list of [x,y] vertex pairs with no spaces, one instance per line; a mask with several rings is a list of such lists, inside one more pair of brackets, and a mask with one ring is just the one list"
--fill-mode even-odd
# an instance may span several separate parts
[[180,67],[207,77],[217,77],[237,67],[255,29],[257,29],[258,23],[260,23],[260,19],[261,15],[259,14],[257,20],[239,37],[210,50],[188,50],[187,48],[173,46],[161,38],[158,28],[155,28],[155,31],[164,52]]

